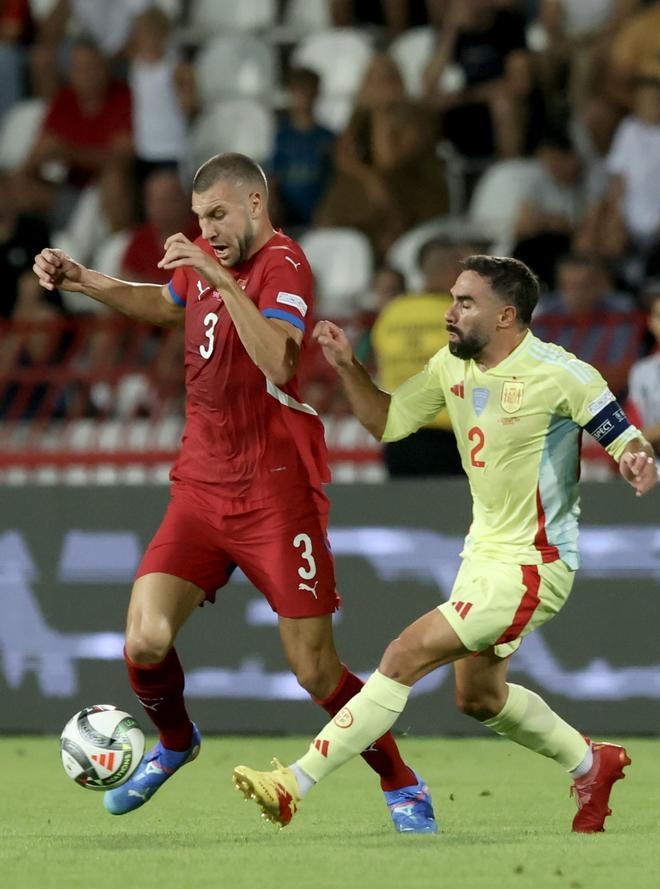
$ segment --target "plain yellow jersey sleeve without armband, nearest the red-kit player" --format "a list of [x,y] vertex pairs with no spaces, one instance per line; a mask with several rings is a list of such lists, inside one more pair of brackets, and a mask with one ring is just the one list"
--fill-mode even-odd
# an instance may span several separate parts
[[423,370],[394,390],[382,441],[399,441],[416,432],[434,420],[445,406],[442,385],[442,356],[445,352],[446,349],[441,349]]

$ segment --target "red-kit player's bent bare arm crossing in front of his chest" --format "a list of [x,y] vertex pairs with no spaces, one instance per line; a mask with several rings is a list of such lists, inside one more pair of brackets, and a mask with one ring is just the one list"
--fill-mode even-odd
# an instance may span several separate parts
[[231,274],[180,232],[165,241],[165,255],[158,265],[170,270],[192,267],[220,290],[250,358],[276,386],[289,382],[298,367],[302,330],[286,321],[265,318]]

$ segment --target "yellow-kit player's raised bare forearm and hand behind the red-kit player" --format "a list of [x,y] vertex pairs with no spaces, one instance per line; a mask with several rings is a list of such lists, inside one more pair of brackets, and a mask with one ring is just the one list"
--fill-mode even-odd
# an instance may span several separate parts
[[339,374],[351,410],[374,438],[380,441],[387,425],[390,395],[371,379],[366,368],[353,355],[348,337],[332,321],[319,321],[313,337],[323,354]]

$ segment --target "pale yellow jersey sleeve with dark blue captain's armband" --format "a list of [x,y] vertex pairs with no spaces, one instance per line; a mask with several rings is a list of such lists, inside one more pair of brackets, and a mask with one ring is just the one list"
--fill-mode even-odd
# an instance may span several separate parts
[[561,372],[564,404],[571,419],[617,462],[633,438],[642,437],[600,373],[577,358]]

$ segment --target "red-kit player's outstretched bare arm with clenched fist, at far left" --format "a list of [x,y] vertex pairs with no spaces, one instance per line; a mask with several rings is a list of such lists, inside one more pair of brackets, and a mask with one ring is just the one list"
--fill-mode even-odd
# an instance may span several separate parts
[[32,269],[45,290],[62,287],[84,293],[130,318],[160,327],[183,324],[184,309],[174,304],[167,287],[160,284],[131,284],[102,275],[50,247],[35,256]]

